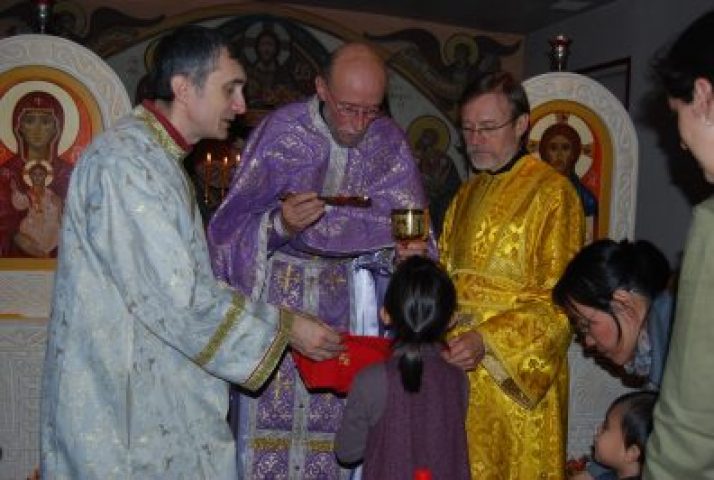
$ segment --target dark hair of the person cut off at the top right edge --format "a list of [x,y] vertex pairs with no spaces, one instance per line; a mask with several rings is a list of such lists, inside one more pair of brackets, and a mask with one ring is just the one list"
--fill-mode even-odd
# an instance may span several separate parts
[[655,59],[653,68],[667,95],[692,101],[694,81],[706,78],[714,85],[714,10],[694,21],[669,50]]

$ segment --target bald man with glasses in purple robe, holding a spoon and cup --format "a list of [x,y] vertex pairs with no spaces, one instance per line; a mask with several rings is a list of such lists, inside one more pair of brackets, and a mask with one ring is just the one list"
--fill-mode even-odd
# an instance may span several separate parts
[[[209,225],[218,277],[337,331],[379,334],[393,263],[390,212],[426,207],[405,135],[382,112],[386,84],[382,59],[346,44],[317,77],[314,97],[253,131]],[[344,196],[369,198],[329,199]],[[308,392],[285,356],[260,395],[232,399],[241,478],[349,478],[332,446],[343,402]]]

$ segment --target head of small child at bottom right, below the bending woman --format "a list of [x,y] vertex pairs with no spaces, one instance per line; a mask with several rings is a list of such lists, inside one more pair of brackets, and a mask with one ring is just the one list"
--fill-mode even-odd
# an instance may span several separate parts
[[656,401],[655,392],[641,391],[625,394],[610,405],[593,445],[595,460],[613,470],[608,479],[640,478]]

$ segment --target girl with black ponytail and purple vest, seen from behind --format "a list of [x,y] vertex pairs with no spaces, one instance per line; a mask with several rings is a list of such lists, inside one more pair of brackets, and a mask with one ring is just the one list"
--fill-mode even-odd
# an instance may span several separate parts
[[357,374],[335,437],[340,462],[364,459],[365,480],[411,480],[418,468],[470,478],[468,380],[441,357],[455,308],[454,285],[436,263],[413,256],[399,264],[380,311],[394,354]]

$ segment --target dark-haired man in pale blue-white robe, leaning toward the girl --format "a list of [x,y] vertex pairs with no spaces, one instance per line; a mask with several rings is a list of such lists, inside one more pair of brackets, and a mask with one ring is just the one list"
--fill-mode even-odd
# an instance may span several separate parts
[[51,479],[234,479],[228,382],[259,388],[288,343],[334,356],[324,324],[214,280],[182,168],[245,111],[225,40],[179,29],[155,50],[154,101],[99,136],[72,174],[41,405]]

